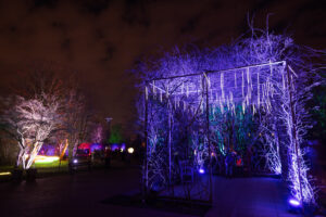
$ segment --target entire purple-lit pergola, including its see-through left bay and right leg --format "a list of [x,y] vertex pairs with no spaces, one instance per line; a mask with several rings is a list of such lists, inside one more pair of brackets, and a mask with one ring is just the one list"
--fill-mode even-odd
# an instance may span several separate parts
[[[313,202],[314,193],[306,169],[302,169],[305,165],[297,138],[298,117],[292,99],[296,74],[289,68],[285,61],[279,61],[148,80],[143,93],[143,195],[158,191],[162,196],[211,203],[214,154],[211,140],[212,133],[218,131],[211,124],[218,114],[228,112],[236,116],[237,107],[241,107],[242,115],[275,116],[276,128],[286,129],[286,136],[278,138],[272,164],[281,166],[283,174],[291,178],[290,189],[296,199],[301,203]],[[290,161],[280,161],[280,146],[289,153],[283,158]],[[187,168],[189,173],[184,171]],[[180,178],[184,174],[188,175],[186,181]]]

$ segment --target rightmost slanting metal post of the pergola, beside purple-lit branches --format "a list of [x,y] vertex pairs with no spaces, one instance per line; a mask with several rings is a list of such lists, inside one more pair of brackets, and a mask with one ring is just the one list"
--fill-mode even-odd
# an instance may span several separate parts
[[297,119],[296,119],[296,113],[294,113],[294,108],[293,108],[292,80],[291,80],[291,76],[290,76],[290,73],[289,73],[289,69],[288,69],[288,65],[286,65],[286,71],[287,71],[287,77],[288,77],[288,91],[289,91],[289,94],[290,94],[290,107],[291,107],[291,117],[292,117],[292,125],[293,125],[293,127],[292,127],[292,137],[294,139],[297,166],[298,166],[298,173],[299,173],[299,188],[300,188],[302,210],[304,212],[302,183],[301,183],[300,158],[299,158],[299,143],[298,143],[298,139],[297,139]]

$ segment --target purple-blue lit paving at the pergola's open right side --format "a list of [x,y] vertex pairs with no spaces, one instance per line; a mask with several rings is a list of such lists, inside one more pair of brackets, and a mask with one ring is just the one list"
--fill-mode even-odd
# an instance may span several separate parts
[[268,177],[213,177],[213,207],[206,217],[288,217],[286,192],[280,179]]

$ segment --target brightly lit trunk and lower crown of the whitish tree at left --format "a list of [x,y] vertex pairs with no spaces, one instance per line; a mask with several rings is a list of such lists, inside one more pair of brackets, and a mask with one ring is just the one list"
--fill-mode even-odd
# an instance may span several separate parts
[[15,97],[8,104],[12,108],[4,112],[2,123],[20,146],[16,166],[28,169],[43,141],[60,128],[62,103],[57,95],[41,93],[34,99]]

